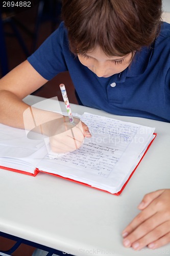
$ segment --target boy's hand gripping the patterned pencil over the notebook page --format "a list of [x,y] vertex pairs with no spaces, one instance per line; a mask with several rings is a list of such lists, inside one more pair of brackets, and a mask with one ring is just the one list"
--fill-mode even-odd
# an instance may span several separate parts
[[57,134],[50,137],[51,150],[55,153],[67,153],[77,150],[85,137],[91,137],[87,125],[74,118],[75,126],[67,117],[63,118],[57,128]]

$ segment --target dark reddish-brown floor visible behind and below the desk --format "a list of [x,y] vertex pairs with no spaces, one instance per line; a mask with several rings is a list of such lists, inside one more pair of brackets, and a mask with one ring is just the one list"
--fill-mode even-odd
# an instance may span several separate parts
[[[16,18],[23,25],[29,28],[31,31],[34,31],[36,11],[37,11],[36,7],[32,8],[31,10],[18,13],[16,15]],[[5,31],[6,32],[11,31],[11,27],[8,24],[5,25]],[[31,52],[32,37],[29,36],[23,30],[19,29],[19,31],[21,33],[21,36],[25,40],[29,51]],[[48,35],[51,34],[51,32],[52,32],[51,23],[50,22],[43,23],[40,28],[37,46],[39,46],[43,42],[43,40]],[[26,56],[23,53],[21,47],[19,46],[16,38],[6,36],[6,46],[7,46],[7,53],[8,53],[9,70],[11,70],[17,65],[19,65],[19,63],[21,63],[23,60],[25,60]],[[1,74],[0,74],[0,77],[1,77]],[[48,81],[45,84],[45,86],[43,86],[33,94],[37,96],[47,97],[47,98],[58,96],[59,100],[62,100],[61,92],[59,89],[60,83],[65,83],[70,103],[77,103],[72,81],[68,73],[64,73],[56,76],[54,79],[52,79],[51,81]],[[8,240],[0,237],[0,251],[8,250],[13,245],[14,245],[14,242],[12,240]],[[21,245],[12,255],[13,256],[31,256],[33,251],[34,251],[33,247],[27,246],[27,245]]]

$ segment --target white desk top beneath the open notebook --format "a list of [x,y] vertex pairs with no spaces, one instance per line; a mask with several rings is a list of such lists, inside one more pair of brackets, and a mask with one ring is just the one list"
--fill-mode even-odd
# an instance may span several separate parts
[[[37,99],[28,96],[25,101],[33,104]],[[0,231],[77,256],[170,254],[170,244],[157,250],[127,249],[121,236],[138,214],[144,194],[170,187],[170,124],[78,105],[71,108],[156,127],[158,135],[119,197],[51,175],[30,177],[1,169]]]

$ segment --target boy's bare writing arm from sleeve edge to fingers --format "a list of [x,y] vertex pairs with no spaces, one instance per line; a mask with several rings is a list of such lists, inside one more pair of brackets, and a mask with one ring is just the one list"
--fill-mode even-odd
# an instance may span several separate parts
[[[42,124],[37,125],[34,131],[50,137],[53,151],[57,153],[74,151],[81,146],[84,137],[91,137],[88,127],[83,122],[77,120],[76,126],[70,128],[68,118],[63,118],[61,114],[32,109],[22,101],[45,82],[47,80],[27,60],[4,76],[0,80],[0,122],[27,130],[32,130],[34,123]],[[25,122],[23,122],[23,112],[25,112]],[[52,120],[54,121],[51,122]]]

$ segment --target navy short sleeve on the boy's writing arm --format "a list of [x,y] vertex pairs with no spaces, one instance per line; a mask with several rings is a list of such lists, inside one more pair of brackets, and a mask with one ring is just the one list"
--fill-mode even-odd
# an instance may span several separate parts
[[67,31],[62,22],[59,28],[28,57],[28,61],[42,77],[51,80],[58,73],[68,70],[63,47],[69,51]]

